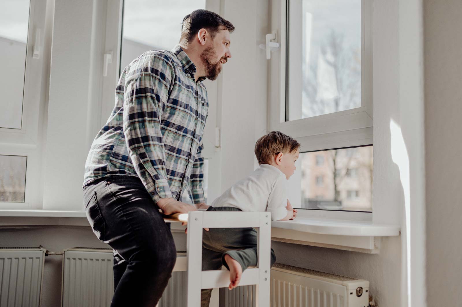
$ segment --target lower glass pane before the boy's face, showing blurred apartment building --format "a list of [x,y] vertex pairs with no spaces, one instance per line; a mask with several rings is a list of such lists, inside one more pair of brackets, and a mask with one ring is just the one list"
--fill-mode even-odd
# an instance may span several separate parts
[[372,211],[372,146],[301,153],[297,162],[287,182],[293,207]]

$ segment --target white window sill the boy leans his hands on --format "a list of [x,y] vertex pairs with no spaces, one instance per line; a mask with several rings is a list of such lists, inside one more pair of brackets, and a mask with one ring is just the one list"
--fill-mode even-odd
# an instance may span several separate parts
[[271,222],[271,239],[302,245],[378,254],[381,237],[400,236],[399,225],[298,217]]

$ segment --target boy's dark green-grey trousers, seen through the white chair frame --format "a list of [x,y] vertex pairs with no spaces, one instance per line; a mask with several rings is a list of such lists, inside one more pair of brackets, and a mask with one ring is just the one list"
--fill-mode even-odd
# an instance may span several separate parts
[[[242,211],[235,207],[209,207],[207,211]],[[253,228],[211,228],[202,231],[202,271],[219,270],[226,265],[225,255],[241,264],[242,272],[257,266],[257,231]],[[276,255],[271,248],[271,266]],[[201,307],[209,307],[212,289],[201,292]]]

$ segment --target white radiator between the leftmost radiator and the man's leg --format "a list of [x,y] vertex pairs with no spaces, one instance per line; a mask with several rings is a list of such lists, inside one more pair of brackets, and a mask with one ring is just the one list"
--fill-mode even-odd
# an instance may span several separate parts
[[109,307],[114,294],[112,249],[69,248],[62,262],[62,307]]

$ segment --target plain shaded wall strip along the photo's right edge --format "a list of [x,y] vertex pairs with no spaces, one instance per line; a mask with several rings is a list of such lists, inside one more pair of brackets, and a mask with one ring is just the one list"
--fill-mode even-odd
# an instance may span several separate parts
[[427,306],[460,306],[462,2],[423,3]]

